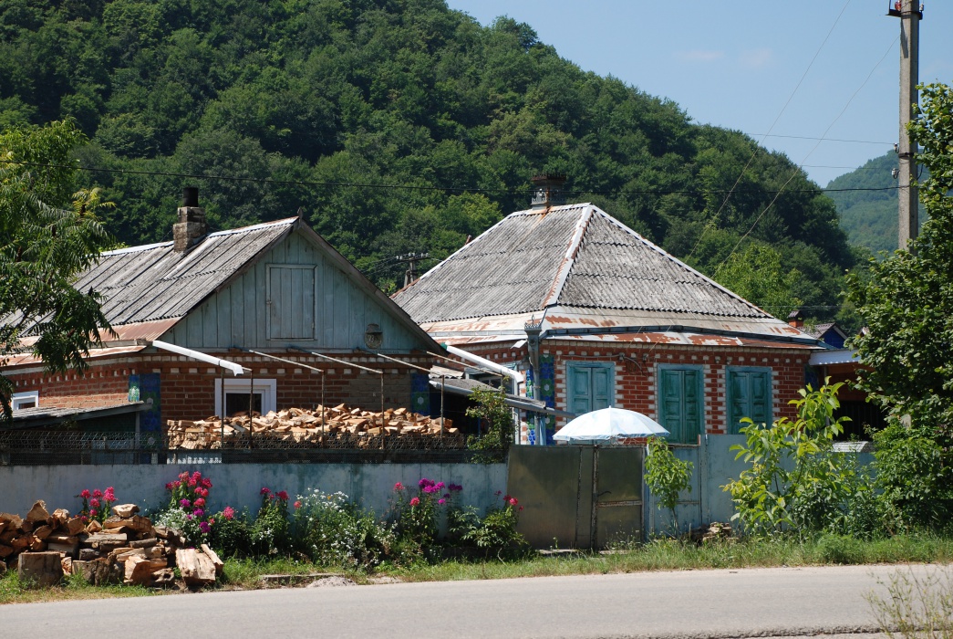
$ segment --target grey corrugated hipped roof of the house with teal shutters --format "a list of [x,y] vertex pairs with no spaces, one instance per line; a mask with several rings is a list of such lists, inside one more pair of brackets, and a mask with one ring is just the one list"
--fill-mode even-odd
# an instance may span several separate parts
[[553,307],[772,319],[591,204],[507,216],[394,299],[420,323]]

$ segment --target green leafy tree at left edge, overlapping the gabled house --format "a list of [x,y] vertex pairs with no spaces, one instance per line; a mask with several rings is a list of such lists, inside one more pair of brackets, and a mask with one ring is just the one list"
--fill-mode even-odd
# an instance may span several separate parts
[[[73,192],[70,154],[84,139],[71,121],[0,134],[0,364],[26,348],[50,372],[84,370],[109,330],[100,297],[72,286],[110,242],[95,216],[108,204]],[[11,392],[0,376],[2,421]]]

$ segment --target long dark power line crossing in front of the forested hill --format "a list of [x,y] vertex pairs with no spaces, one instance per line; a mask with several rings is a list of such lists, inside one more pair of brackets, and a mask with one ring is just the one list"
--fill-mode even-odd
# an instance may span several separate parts
[[[39,168],[49,168],[49,169],[73,169],[77,171],[88,171],[91,173],[118,173],[118,174],[133,174],[133,175],[154,175],[159,177],[185,177],[190,179],[205,179],[205,180],[221,180],[221,181],[232,181],[232,182],[255,182],[259,184],[277,184],[282,186],[316,186],[316,187],[328,187],[328,188],[359,188],[359,189],[400,189],[407,191],[443,191],[443,192],[452,192],[452,193],[488,193],[495,195],[523,195],[530,193],[531,188],[526,189],[481,189],[477,187],[450,187],[450,186],[419,186],[412,184],[370,184],[370,183],[359,183],[359,182],[313,182],[308,180],[283,180],[283,179],[272,179],[270,177],[235,177],[232,175],[206,175],[206,174],[185,174],[185,173],[170,173],[163,171],[132,171],[129,169],[103,169],[98,167],[88,167],[88,166],[73,166],[69,164],[44,164],[41,162],[19,162],[16,160],[2,160],[0,163],[3,164],[18,164],[21,166],[31,166]],[[804,165],[801,165],[804,166]],[[850,168],[850,167],[842,167]],[[800,169],[800,167],[799,167]],[[844,191],[893,191],[898,187],[883,187],[883,188],[854,188],[854,189],[825,189],[821,186],[817,188],[808,188],[808,189],[789,189],[784,193],[838,193]],[[781,193],[781,191],[767,191],[763,189],[716,189],[716,190],[697,190],[697,189],[577,189],[574,191],[563,191],[566,195],[617,195],[617,196],[668,196],[668,195],[685,195],[685,196],[717,196],[723,194],[731,193],[758,193],[765,196],[775,195]]]

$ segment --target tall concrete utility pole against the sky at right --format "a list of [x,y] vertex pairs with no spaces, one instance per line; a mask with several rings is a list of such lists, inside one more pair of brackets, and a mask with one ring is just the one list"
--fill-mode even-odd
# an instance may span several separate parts
[[917,179],[917,146],[910,141],[907,125],[913,119],[914,106],[920,102],[917,92],[920,75],[920,21],[923,5],[920,0],[899,0],[888,15],[900,18],[900,144],[898,177],[900,249],[909,250],[909,241],[920,233]]

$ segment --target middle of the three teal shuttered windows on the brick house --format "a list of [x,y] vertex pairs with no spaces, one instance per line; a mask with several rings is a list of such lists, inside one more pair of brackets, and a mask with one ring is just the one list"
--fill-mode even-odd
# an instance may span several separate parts
[[698,443],[704,414],[701,366],[659,365],[659,422],[668,441]]

